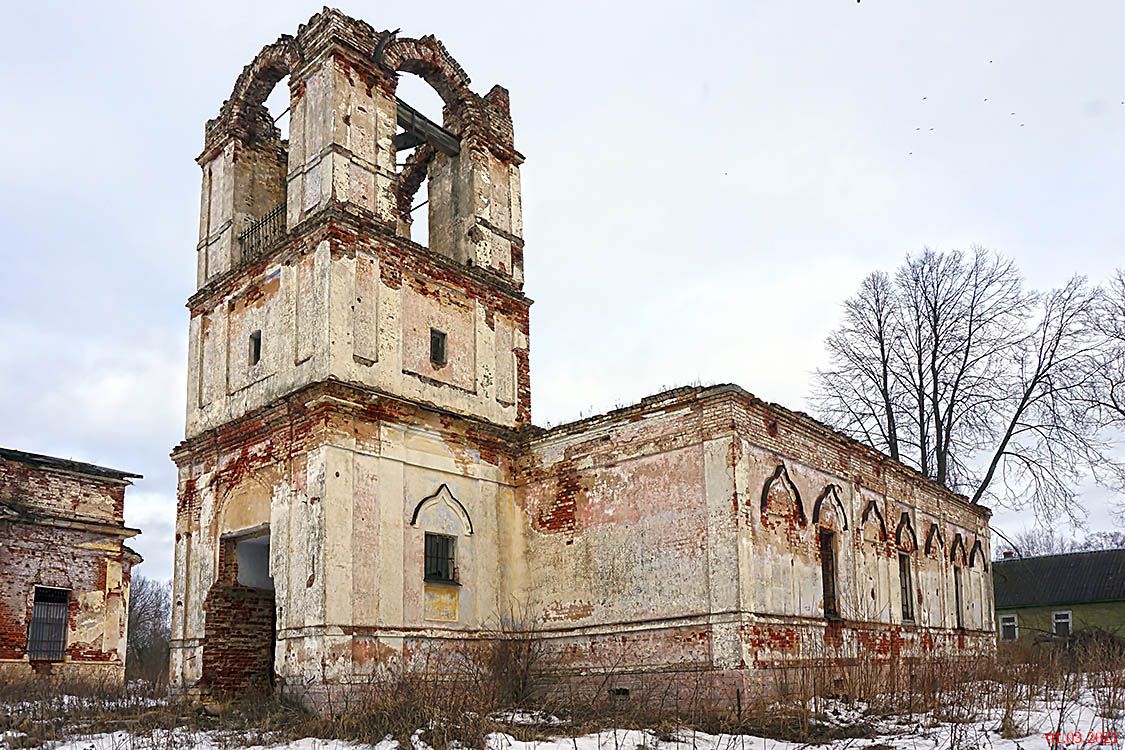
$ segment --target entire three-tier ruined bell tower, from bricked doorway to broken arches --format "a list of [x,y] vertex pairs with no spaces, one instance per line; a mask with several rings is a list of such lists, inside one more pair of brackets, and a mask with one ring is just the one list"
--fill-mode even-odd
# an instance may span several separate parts
[[[440,124],[402,75],[441,97]],[[286,76],[288,139],[264,107]],[[474,567],[497,554],[480,519],[530,423],[507,91],[475,93],[432,36],[325,9],[243,69],[197,161],[173,684],[307,683],[313,663],[346,681],[376,648],[357,633],[394,650],[387,629],[479,626],[503,586]],[[447,495],[464,564],[435,591],[412,567],[418,503]]]

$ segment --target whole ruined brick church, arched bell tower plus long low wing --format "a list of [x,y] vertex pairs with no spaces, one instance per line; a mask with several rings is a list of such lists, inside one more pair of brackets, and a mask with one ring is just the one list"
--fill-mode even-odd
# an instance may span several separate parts
[[508,92],[438,39],[325,9],[197,161],[174,688],[327,695],[513,611],[544,679],[615,695],[992,648],[988,510],[806,415],[716,386],[531,423]]

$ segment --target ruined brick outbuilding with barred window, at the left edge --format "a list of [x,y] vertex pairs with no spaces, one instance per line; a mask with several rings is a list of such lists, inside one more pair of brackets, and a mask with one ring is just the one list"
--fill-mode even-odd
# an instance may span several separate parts
[[0,678],[124,683],[125,488],[140,475],[0,448]]

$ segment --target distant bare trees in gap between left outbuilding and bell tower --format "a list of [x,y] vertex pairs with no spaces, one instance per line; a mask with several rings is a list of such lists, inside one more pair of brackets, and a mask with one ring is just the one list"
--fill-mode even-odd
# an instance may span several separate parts
[[125,658],[125,671],[129,680],[162,684],[166,679],[171,617],[171,584],[133,576],[129,582],[129,631]]

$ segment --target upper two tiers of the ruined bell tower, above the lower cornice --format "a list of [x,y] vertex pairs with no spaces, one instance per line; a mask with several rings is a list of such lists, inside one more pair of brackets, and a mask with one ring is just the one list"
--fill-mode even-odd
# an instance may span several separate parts
[[[402,74],[441,96],[441,125],[396,97]],[[286,75],[282,141],[263,102]],[[189,435],[327,379],[526,424],[523,157],[507,91],[474,93],[433,37],[328,10],[243,70],[197,161]],[[414,242],[425,180],[430,236]],[[433,266],[432,288],[389,293],[417,264]],[[430,328],[444,334],[444,361],[431,358]]]

